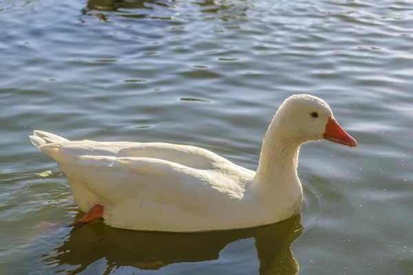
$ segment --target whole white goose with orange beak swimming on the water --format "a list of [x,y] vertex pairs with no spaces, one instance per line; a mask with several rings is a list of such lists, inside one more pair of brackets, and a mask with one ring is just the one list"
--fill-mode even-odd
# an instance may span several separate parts
[[257,172],[187,145],[74,141],[34,131],[32,143],[58,162],[85,217],[114,228],[195,232],[251,228],[288,219],[302,202],[299,147],[321,139],[357,146],[328,104],[287,98],[262,143]]

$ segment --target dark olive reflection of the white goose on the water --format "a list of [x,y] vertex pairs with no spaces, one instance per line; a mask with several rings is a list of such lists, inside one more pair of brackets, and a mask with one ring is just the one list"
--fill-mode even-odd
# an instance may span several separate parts
[[[82,215],[79,213],[76,220]],[[44,255],[43,262],[59,268],[76,266],[66,270],[67,274],[78,274],[100,259],[107,261],[103,274],[112,274],[122,267],[158,270],[173,263],[216,260],[229,243],[254,238],[260,275],[295,275],[299,266],[291,243],[302,232],[300,218],[297,214],[286,221],[259,228],[193,234],[122,230],[96,221],[73,228],[61,247]]]

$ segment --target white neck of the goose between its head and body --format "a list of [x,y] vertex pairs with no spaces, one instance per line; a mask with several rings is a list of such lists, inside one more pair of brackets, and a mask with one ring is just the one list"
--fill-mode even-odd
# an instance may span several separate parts
[[282,125],[273,121],[262,142],[254,181],[258,186],[279,186],[298,180],[297,164],[301,140],[288,137]]

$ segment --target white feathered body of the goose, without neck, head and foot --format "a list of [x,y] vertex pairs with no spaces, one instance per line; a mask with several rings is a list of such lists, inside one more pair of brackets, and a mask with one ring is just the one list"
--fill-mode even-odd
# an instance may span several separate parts
[[104,207],[115,228],[195,232],[248,228],[293,216],[302,201],[290,188],[257,186],[255,172],[195,146],[167,143],[71,142],[34,131],[32,143],[58,163],[79,208]]

